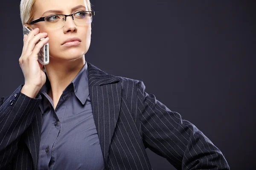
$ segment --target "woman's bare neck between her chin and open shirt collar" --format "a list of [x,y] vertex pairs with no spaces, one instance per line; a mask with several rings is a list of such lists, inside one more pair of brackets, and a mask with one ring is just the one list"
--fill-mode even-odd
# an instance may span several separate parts
[[72,61],[57,61],[51,58],[49,64],[45,65],[47,77],[51,84],[48,95],[52,98],[55,106],[64,89],[76,77],[84,64],[85,59],[82,56]]

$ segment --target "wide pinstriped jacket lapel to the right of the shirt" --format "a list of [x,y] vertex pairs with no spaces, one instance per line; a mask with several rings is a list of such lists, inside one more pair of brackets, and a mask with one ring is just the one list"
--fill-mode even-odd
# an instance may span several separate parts
[[110,142],[120,112],[122,82],[90,63],[88,77],[94,122],[106,166]]

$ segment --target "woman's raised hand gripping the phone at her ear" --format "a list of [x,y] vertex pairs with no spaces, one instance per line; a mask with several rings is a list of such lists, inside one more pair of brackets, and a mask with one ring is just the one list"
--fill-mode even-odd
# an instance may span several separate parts
[[[45,39],[38,42],[41,38]],[[23,38],[23,50],[19,62],[25,83],[23,86],[24,89],[21,92],[25,92],[26,89],[27,96],[35,97],[46,82],[43,65],[38,62],[38,53],[48,41],[49,37],[47,37],[47,33],[39,33],[39,28],[33,29]]]

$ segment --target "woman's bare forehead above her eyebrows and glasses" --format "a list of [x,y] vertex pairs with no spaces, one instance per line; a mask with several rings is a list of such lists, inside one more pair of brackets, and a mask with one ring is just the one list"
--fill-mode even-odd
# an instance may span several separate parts
[[48,10],[60,10],[65,14],[71,13],[73,7],[83,5],[87,9],[85,0],[36,0],[35,2],[35,16],[41,16]]

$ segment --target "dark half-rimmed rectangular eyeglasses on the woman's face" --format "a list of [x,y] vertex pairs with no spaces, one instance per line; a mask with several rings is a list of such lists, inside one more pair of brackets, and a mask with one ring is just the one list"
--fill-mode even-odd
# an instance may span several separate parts
[[76,25],[89,24],[93,21],[94,11],[79,11],[74,14],[64,15],[64,14],[54,14],[45,17],[32,20],[30,24],[38,23],[44,21],[47,27],[57,28],[65,25],[68,16],[71,16]]

